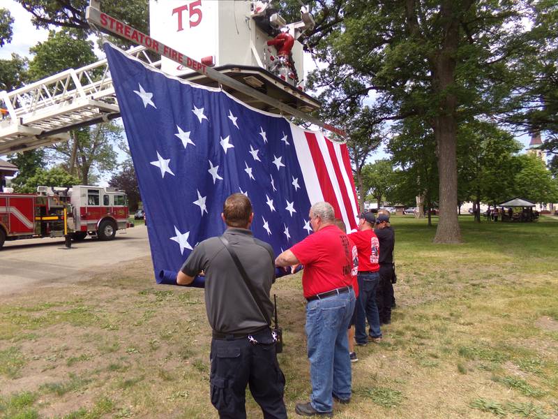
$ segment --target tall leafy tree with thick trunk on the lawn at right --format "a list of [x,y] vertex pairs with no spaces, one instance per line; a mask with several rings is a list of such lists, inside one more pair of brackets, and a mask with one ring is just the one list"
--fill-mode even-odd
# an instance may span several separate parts
[[[328,24],[308,47],[329,66],[314,75],[322,97],[350,110],[371,91],[379,121],[412,115],[432,128],[439,172],[435,242],[460,242],[457,130],[474,115],[507,110],[518,66],[532,59],[527,0],[320,1]],[[331,13],[338,9],[335,15]]]

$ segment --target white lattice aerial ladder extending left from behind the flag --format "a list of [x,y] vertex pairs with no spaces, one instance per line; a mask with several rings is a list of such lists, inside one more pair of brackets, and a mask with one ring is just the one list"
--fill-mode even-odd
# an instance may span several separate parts
[[[128,54],[155,68],[144,47]],[[0,156],[68,140],[68,131],[120,116],[106,59],[0,91]]]

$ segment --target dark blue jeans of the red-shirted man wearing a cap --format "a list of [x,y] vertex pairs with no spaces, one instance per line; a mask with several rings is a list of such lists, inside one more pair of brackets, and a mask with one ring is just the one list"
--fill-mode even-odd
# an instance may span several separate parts
[[354,325],[354,339],[357,344],[368,343],[366,336],[365,318],[370,325],[370,336],[381,337],[379,328],[378,307],[376,305],[376,288],[379,284],[379,273],[359,274],[359,298],[356,300],[356,323]]

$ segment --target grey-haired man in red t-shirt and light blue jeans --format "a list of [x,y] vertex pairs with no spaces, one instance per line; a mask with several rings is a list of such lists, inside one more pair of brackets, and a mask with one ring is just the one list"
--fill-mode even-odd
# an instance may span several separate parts
[[276,258],[276,266],[304,265],[302,288],[306,305],[306,335],[312,394],[297,403],[303,416],[332,416],[333,398],[351,399],[351,360],[347,328],[354,311],[352,249],[345,233],[333,222],[329,203],[310,208],[314,233]]

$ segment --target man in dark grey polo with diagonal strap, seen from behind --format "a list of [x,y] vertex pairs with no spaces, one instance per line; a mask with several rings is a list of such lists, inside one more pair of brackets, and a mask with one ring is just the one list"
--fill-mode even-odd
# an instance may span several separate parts
[[[250,200],[234,193],[223,204],[221,218],[227,225],[223,237],[238,255],[256,295],[269,318],[269,299],[275,279],[273,249],[255,239],[248,230],[254,214]],[[219,237],[199,243],[176,277],[190,284],[205,274],[207,318],[213,328],[211,340],[211,403],[220,418],[246,418],[246,385],[262,408],[264,418],[287,418],[283,402],[285,376],[277,362],[275,341],[232,256]]]

